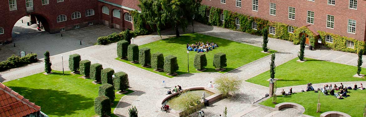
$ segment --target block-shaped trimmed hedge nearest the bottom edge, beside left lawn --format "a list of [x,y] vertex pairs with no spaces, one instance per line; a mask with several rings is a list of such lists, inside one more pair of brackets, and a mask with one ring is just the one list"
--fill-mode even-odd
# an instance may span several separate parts
[[105,95],[100,95],[94,100],[94,112],[100,116],[111,114],[111,100]]

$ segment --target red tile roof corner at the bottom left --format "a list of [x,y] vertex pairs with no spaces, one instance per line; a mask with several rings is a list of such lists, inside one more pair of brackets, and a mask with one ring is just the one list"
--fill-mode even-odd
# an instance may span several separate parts
[[0,117],[23,117],[40,110],[40,106],[0,83]]

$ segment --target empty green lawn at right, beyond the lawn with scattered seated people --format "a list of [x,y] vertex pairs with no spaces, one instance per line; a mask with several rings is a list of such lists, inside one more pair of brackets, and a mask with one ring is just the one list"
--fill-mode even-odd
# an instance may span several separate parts
[[[366,81],[365,78],[353,77],[357,71],[356,66],[310,58],[306,58],[307,61],[300,63],[296,61],[298,59],[292,59],[276,67],[275,78],[280,79],[277,80],[277,87],[306,85],[307,83]],[[365,68],[362,68],[361,74],[366,74]],[[269,78],[268,70],[246,81],[268,87]]]

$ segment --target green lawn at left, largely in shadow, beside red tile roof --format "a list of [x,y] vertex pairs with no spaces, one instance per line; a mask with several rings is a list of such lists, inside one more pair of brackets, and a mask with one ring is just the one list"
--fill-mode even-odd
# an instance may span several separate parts
[[[41,106],[41,111],[50,117],[94,117],[94,98],[98,96],[100,84],[94,85],[91,79],[79,78],[81,75],[70,74],[70,71],[53,71],[30,75],[4,82],[12,90],[26,99]],[[128,90],[128,93],[132,93]],[[112,113],[119,100],[126,94],[116,94]],[[117,117],[111,114],[112,117]]]

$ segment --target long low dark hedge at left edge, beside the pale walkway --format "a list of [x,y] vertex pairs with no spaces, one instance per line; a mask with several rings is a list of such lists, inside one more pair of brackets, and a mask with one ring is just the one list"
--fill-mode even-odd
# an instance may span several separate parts
[[0,71],[25,66],[37,61],[37,54],[27,54],[21,58],[20,56],[11,55],[7,60],[0,62]]

